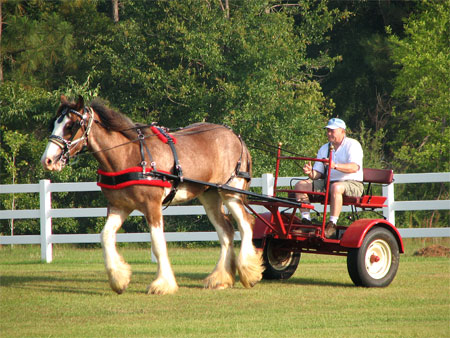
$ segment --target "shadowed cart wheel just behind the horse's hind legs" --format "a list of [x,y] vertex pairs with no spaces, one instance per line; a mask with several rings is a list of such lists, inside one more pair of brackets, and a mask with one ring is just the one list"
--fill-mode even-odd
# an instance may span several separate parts
[[297,270],[300,252],[286,250],[277,240],[268,239],[263,251],[264,279],[288,279]]

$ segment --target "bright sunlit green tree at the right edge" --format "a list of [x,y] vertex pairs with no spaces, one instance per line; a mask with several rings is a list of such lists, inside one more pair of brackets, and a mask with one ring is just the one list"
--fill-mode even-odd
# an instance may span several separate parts
[[401,171],[449,171],[450,4],[426,1],[420,8],[406,22],[405,38],[390,38],[399,66],[392,149]]

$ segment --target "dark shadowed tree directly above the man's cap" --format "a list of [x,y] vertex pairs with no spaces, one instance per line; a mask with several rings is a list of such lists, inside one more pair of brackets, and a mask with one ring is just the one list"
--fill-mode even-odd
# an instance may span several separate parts
[[325,96],[336,105],[336,113],[353,130],[360,122],[377,132],[385,128],[392,114],[392,80],[394,65],[386,26],[399,36],[403,20],[415,8],[413,1],[348,1],[330,2],[331,7],[347,10],[348,20],[338,23],[328,44],[330,55],[341,57],[331,73],[323,76]]

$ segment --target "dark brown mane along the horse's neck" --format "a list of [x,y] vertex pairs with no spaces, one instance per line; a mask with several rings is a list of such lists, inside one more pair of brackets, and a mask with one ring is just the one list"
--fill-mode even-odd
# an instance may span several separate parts
[[94,99],[90,106],[97,113],[102,125],[111,131],[118,131],[128,138],[136,138],[133,130],[136,124],[131,119],[115,110],[107,107],[100,99]]

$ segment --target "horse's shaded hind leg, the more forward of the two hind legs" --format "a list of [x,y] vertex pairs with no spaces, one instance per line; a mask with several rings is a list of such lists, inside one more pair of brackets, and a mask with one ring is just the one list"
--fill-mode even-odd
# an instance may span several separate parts
[[209,220],[214,225],[220,241],[220,257],[213,272],[205,279],[205,288],[225,289],[232,287],[236,275],[236,262],[233,251],[234,229],[223,210],[223,202],[215,190],[199,196]]

